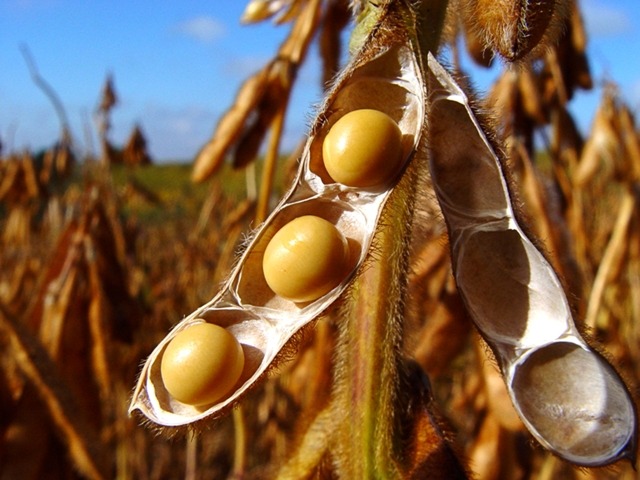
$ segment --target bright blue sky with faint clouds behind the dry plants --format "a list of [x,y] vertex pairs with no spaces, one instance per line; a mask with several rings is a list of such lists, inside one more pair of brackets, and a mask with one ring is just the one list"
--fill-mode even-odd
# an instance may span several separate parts
[[[613,79],[640,108],[640,2],[582,0],[596,83]],[[209,138],[242,80],[276,51],[288,26],[242,26],[235,0],[0,0],[0,139],[6,149],[39,149],[59,135],[55,112],[33,84],[20,53],[28,45],[40,74],[60,96],[79,145],[105,76],[120,103],[111,138],[126,140],[138,123],[158,161],[189,160]],[[306,130],[320,100],[319,59],[312,50],[288,114],[284,148]],[[473,72],[486,88],[498,70]],[[588,129],[599,89],[580,94],[573,111]],[[92,125],[92,124],[91,124]],[[95,135],[94,145],[97,145]],[[5,150],[6,151],[6,150]]]

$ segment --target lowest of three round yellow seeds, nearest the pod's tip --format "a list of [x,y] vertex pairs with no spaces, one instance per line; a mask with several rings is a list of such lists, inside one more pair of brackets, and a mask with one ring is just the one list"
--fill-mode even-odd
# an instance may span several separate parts
[[173,398],[204,405],[228,394],[243,368],[244,353],[236,338],[218,325],[198,323],[169,342],[160,373]]

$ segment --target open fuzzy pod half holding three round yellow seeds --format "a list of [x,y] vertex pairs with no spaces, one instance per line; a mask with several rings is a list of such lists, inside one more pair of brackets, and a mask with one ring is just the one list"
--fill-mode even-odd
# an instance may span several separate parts
[[[400,14],[394,11],[397,7],[384,7],[379,24],[327,94],[312,125],[292,188],[248,242],[221,291],[176,325],[147,359],[130,412],[139,410],[161,427],[189,425],[227,413],[274,365],[279,355],[286,352],[285,346],[290,344],[296,332],[316,319],[344,292],[367,255],[385,201],[411,159],[423,131],[424,81]],[[387,178],[376,180],[373,185],[356,187],[338,183],[324,166],[325,137],[347,114],[366,110],[382,112],[397,125],[400,160]],[[371,125],[365,123],[365,131]],[[372,132],[368,141],[377,141],[376,136],[376,132]],[[347,135],[346,141],[357,137]],[[359,146],[354,148],[358,150]],[[348,169],[349,165],[344,168]],[[312,239],[311,247],[307,245],[298,250],[299,244],[303,243],[301,239],[307,235],[306,231],[296,230],[299,224],[311,225],[312,231],[324,232],[323,239],[329,237],[331,240],[319,239],[318,244]],[[309,291],[291,289],[287,278],[278,279],[277,274],[272,278],[273,269],[291,260],[287,258],[287,248],[281,248],[283,245],[294,245],[292,250],[302,252],[302,258],[294,258],[290,262],[292,265],[314,263],[315,257],[320,255],[318,252],[326,250],[332,268],[319,265],[316,269],[319,273],[309,279],[305,277],[306,272],[297,271],[293,265],[283,274],[306,282]],[[278,255],[284,255],[285,260],[278,260]],[[333,267],[333,262],[343,265]],[[192,373],[199,376],[202,370],[216,366],[200,368],[196,365],[191,370],[177,366],[174,369],[171,360],[165,362],[169,365],[162,365],[163,357],[174,338],[180,337],[180,344],[197,343],[190,339],[182,341],[186,337],[181,333],[203,322],[218,325],[231,333],[242,348],[244,363],[238,380],[229,391],[215,400],[212,398],[219,396],[219,392],[214,396],[200,396],[187,391],[184,398],[197,399],[190,404],[177,400],[169,392],[162,370],[166,367],[168,376],[178,371],[176,375],[182,375],[183,382],[189,382]],[[198,338],[197,335],[193,337]],[[228,351],[237,352],[228,338],[221,343]],[[186,352],[191,347],[184,348]],[[178,348],[177,353],[171,353],[172,350],[175,349],[171,349],[170,354],[177,362],[183,350]],[[235,358],[236,354],[233,356]],[[198,373],[194,373],[195,370]],[[199,404],[202,398],[209,403]]]

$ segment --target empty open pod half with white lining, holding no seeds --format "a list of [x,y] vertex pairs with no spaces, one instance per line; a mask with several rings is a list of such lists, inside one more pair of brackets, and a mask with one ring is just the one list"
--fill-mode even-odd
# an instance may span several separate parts
[[464,91],[428,64],[429,166],[460,294],[533,436],[581,466],[634,459],[636,410],[581,337],[553,268],[519,225],[505,167]]

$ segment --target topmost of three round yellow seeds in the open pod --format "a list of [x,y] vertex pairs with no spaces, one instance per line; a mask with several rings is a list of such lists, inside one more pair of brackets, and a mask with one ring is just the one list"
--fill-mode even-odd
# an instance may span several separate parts
[[354,110],[340,118],[322,144],[327,172],[350,187],[373,187],[389,180],[403,158],[402,131],[378,110]]

